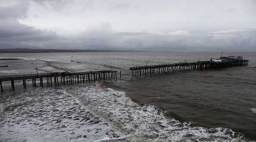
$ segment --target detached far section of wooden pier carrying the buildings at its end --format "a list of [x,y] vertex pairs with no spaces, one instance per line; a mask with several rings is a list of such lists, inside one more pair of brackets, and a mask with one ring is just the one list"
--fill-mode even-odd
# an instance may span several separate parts
[[181,70],[204,70],[204,69],[216,69],[220,67],[228,66],[247,66],[249,60],[237,60],[232,62],[185,62],[185,63],[173,63],[173,64],[157,64],[152,66],[136,66],[130,67],[132,76],[151,76],[159,75],[161,73],[175,72]]

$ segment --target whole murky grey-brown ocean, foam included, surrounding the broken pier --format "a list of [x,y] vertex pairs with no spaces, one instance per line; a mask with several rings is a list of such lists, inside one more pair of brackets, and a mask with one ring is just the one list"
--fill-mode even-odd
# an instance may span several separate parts
[[[0,75],[118,70],[121,79],[5,92],[0,141],[254,141],[256,53],[248,66],[132,77],[129,67],[220,53],[127,51],[0,54]],[[19,85],[19,83],[16,83]]]

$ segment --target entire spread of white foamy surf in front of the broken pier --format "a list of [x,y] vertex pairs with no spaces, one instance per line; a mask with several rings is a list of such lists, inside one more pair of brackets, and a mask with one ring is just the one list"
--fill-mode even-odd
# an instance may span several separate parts
[[96,84],[32,89],[8,99],[0,141],[247,141],[228,128],[192,127]]

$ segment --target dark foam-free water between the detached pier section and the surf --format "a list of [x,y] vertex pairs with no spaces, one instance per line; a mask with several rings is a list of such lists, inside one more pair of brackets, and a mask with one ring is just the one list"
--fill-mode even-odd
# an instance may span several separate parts
[[244,68],[253,70],[177,72],[132,79],[122,88],[133,100],[160,106],[178,120],[232,128],[256,138],[256,78]]

